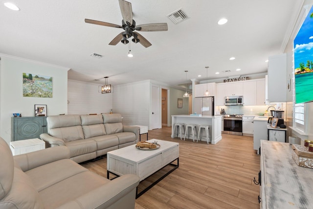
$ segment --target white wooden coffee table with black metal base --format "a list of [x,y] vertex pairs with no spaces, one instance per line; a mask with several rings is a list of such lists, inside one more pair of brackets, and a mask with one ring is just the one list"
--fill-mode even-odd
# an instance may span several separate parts
[[[156,185],[164,177],[179,167],[179,143],[159,139],[151,139],[148,141],[157,141],[157,143],[160,144],[160,148],[155,150],[139,150],[134,144],[107,153],[108,179],[110,178],[110,173],[117,177],[125,174],[135,174],[139,176],[140,181],[143,181],[169,164],[174,166],[173,169],[159,178],[152,185],[145,188],[139,194],[136,192],[136,198],[141,196],[144,192]],[[177,164],[173,164],[176,160]]]

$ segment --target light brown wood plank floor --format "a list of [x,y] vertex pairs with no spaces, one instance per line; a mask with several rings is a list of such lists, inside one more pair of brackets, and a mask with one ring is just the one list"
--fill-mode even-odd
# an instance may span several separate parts
[[[253,150],[252,137],[223,134],[217,144],[207,145],[204,141],[172,139],[171,127],[165,126],[148,135],[149,139],[179,142],[179,168],[136,199],[136,209],[260,208],[260,188],[253,183],[260,170],[260,156]],[[142,135],[145,139],[146,135]],[[101,176],[107,175],[106,157],[82,165]]]

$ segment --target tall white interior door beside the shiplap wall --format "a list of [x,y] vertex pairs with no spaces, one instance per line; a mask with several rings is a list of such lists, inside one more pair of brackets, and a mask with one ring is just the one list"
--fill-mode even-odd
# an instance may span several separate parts
[[162,128],[160,111],[160,87],[151,87],[151,113],[150,113],[150,129]]

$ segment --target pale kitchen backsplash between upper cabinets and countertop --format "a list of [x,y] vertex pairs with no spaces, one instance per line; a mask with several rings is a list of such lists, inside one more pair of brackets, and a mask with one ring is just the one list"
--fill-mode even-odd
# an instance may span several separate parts
[[[274,106],[276,110],[278,106],[281,110],[285,110],[285,103],[280,103],[280,105],[259,105],[259,106],[245,106],[245,105],[228,105],[228,106],[215,106],[215,112],[221,111],[221,108],[225,110],[225,114],[239,114],[239,115],[259,115],[259,113],[265,113],[269,106]],[[268,112],[273,110],[269,108]]]

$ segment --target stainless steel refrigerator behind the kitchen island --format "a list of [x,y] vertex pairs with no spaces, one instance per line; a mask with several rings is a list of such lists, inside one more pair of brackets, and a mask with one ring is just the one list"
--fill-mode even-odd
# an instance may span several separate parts
[[194,112],[202,116],[214,116],[214,96],[195,97]]

